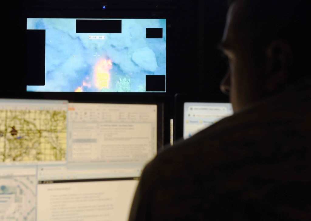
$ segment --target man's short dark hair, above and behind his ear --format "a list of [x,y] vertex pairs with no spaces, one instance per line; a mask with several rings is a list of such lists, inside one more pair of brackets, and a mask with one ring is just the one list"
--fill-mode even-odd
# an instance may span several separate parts
[[[229,0],[231,5],[235,1]],[[244,0],[246,9],[244,25],[252,36],[254,53],[265,48],[272,40],[284,40],[293,52],[293,71],[289,81],[311,73],[305,69],[309,65],[310,50],[310,0]],[[256,51],[257,50],[257,51]],[[307,53],[306,53],[307,52]]]

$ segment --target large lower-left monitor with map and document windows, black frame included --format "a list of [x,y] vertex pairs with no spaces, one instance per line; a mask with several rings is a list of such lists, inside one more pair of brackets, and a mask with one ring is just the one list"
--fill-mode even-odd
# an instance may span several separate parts
[[152,101],[0,99],[0,219],[127,220],[162,116]]

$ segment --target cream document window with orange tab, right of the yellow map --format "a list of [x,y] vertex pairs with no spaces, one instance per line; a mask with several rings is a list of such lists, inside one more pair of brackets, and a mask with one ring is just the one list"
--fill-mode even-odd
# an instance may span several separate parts
[[157,105],[69,103],[68,162],[142,162],[157,152]]

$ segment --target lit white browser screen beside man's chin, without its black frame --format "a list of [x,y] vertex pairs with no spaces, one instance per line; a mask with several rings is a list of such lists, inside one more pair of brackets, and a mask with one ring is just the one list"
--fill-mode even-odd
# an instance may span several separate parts
[[185,102],[183,105],[183,138],[233,114],[231,103]]

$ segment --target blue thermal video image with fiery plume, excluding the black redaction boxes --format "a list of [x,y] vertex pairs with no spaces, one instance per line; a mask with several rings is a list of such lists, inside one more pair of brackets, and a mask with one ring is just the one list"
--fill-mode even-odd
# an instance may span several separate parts
[[146,92],[147,75],[166,76],[166,19],[120,19],[121,33],[76,33],[76,20],[27,19],[27,30],[45,30],[45,85],[27,91]]

